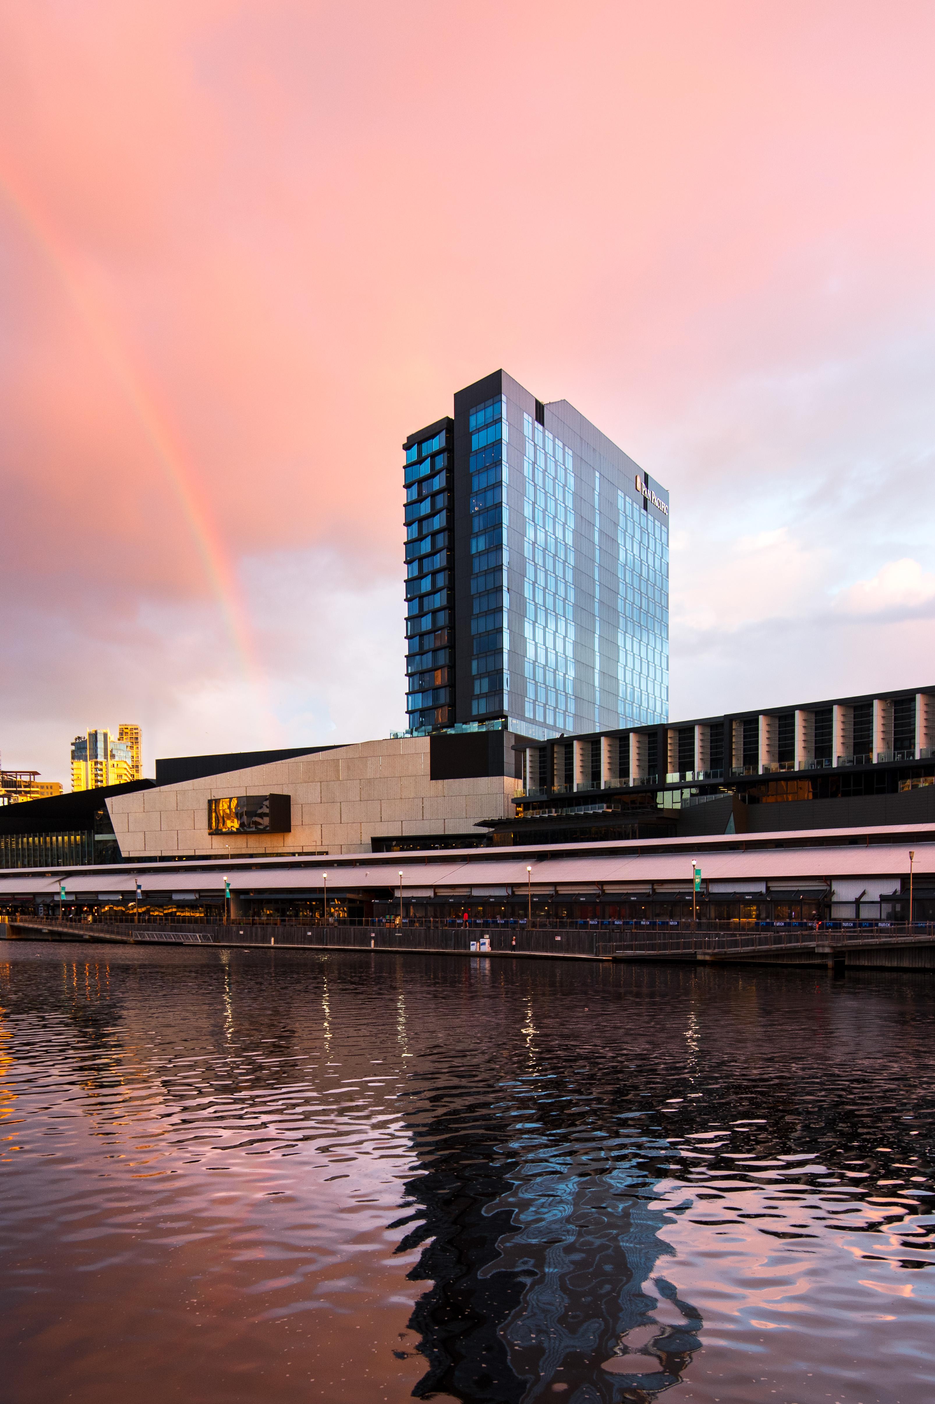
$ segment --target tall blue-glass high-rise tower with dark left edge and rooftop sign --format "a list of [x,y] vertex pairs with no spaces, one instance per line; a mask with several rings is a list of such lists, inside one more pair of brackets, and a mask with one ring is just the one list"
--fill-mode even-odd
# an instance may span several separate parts
[[669,493],[505,371],[404,451],[411,731],[666,722]]

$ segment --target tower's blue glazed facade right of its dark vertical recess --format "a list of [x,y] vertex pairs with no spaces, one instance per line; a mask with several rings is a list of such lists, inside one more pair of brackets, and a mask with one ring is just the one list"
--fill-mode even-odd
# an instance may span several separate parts
[[664,722],[667,494],[571,404],[502,382],[471,411],[471,719]]

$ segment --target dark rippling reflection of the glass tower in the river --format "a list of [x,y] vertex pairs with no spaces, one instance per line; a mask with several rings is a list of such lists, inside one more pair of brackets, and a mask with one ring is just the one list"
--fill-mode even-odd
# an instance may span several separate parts
[[[530,1059],[534,1032],[527,1008]],[[401,1251],[425,1244],[411,1278],[432,1286],[409,1321],[429,1360],[414,1394],[653,1400],[680,1382],[702,1325],[660,1264],[671,1213],[645,1165],[670,1147],[601,1115],[580,1085],[499,1071],[478,1071],[470,1099],[451,1087],[415,1127],[419,1223]]]

